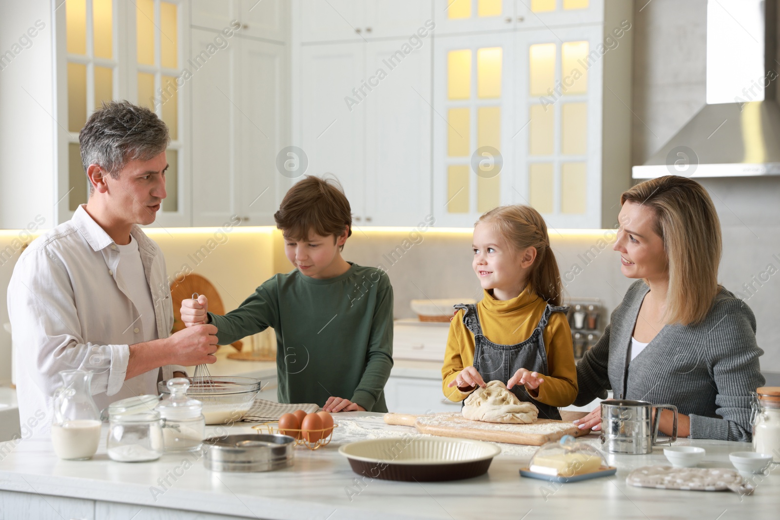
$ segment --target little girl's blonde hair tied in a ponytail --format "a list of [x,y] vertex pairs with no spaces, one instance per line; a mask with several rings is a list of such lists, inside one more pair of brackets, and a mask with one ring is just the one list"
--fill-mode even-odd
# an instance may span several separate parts
[[541,214],[533,207],[515,204],[488,211],[477,224],[480,222],[495,224],[498,232],[518,251],[528,247],[536,248],[537,257],[531,266],[528,284],[551,305],[561,305],[563,287],[558,262],[550,249],[547,224]]

